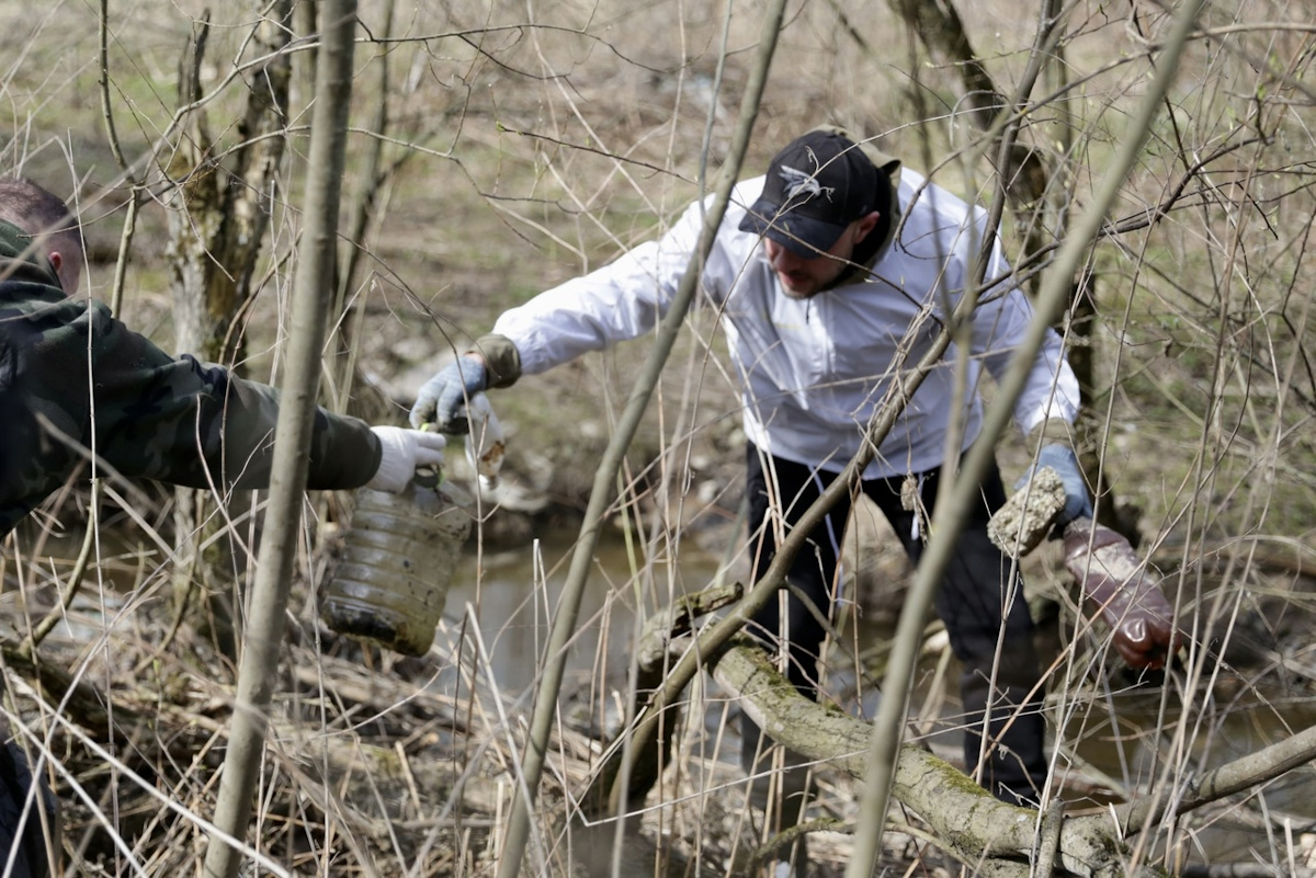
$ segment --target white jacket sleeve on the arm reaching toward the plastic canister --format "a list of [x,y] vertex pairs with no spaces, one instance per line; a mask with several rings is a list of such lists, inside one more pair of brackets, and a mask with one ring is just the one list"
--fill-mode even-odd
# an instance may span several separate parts
[[667,313],[701,222],[696,202],[657,241],[504,312],[494,333],[516,344],[525,375],[640,338]]

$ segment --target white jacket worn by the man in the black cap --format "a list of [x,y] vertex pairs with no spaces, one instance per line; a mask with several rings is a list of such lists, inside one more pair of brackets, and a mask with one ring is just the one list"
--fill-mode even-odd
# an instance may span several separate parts
[[[704,266],[701,294],[720,309],[750,440],[775,456],[840,472],[858,452],[875,407],[898,404],[891,396],[896,369],[912,369],[941,331],[941,318],[970,276],[986,214],[904,170],[898,191],[903,225],[876,256],[871,275],[796,300],[782,292],[762,239],[738,229],[762,188],[763,177],[736,187]],[[659,239],[505,312],[494,333],[516,344],[521,372],[545,372],[651,331],[697,247],[707,208],[708,202],[695,202]],[[987,281],[1008,273],[998,242]],[[962,404],[967,406],[963,448],[982,428],[983,367],[996,377],[1004,375],[1032,319],[1032,305],[1008,280],[982,296]],[[951,346],[919,386],[866,478],[920,473],[942,463],[955,415],[957,356]],[[1049,331],[1015,406],[1015,421],[1025,432],[1046,418],[1073,422],[1078,402],[1078,381],[1061,339]]]

